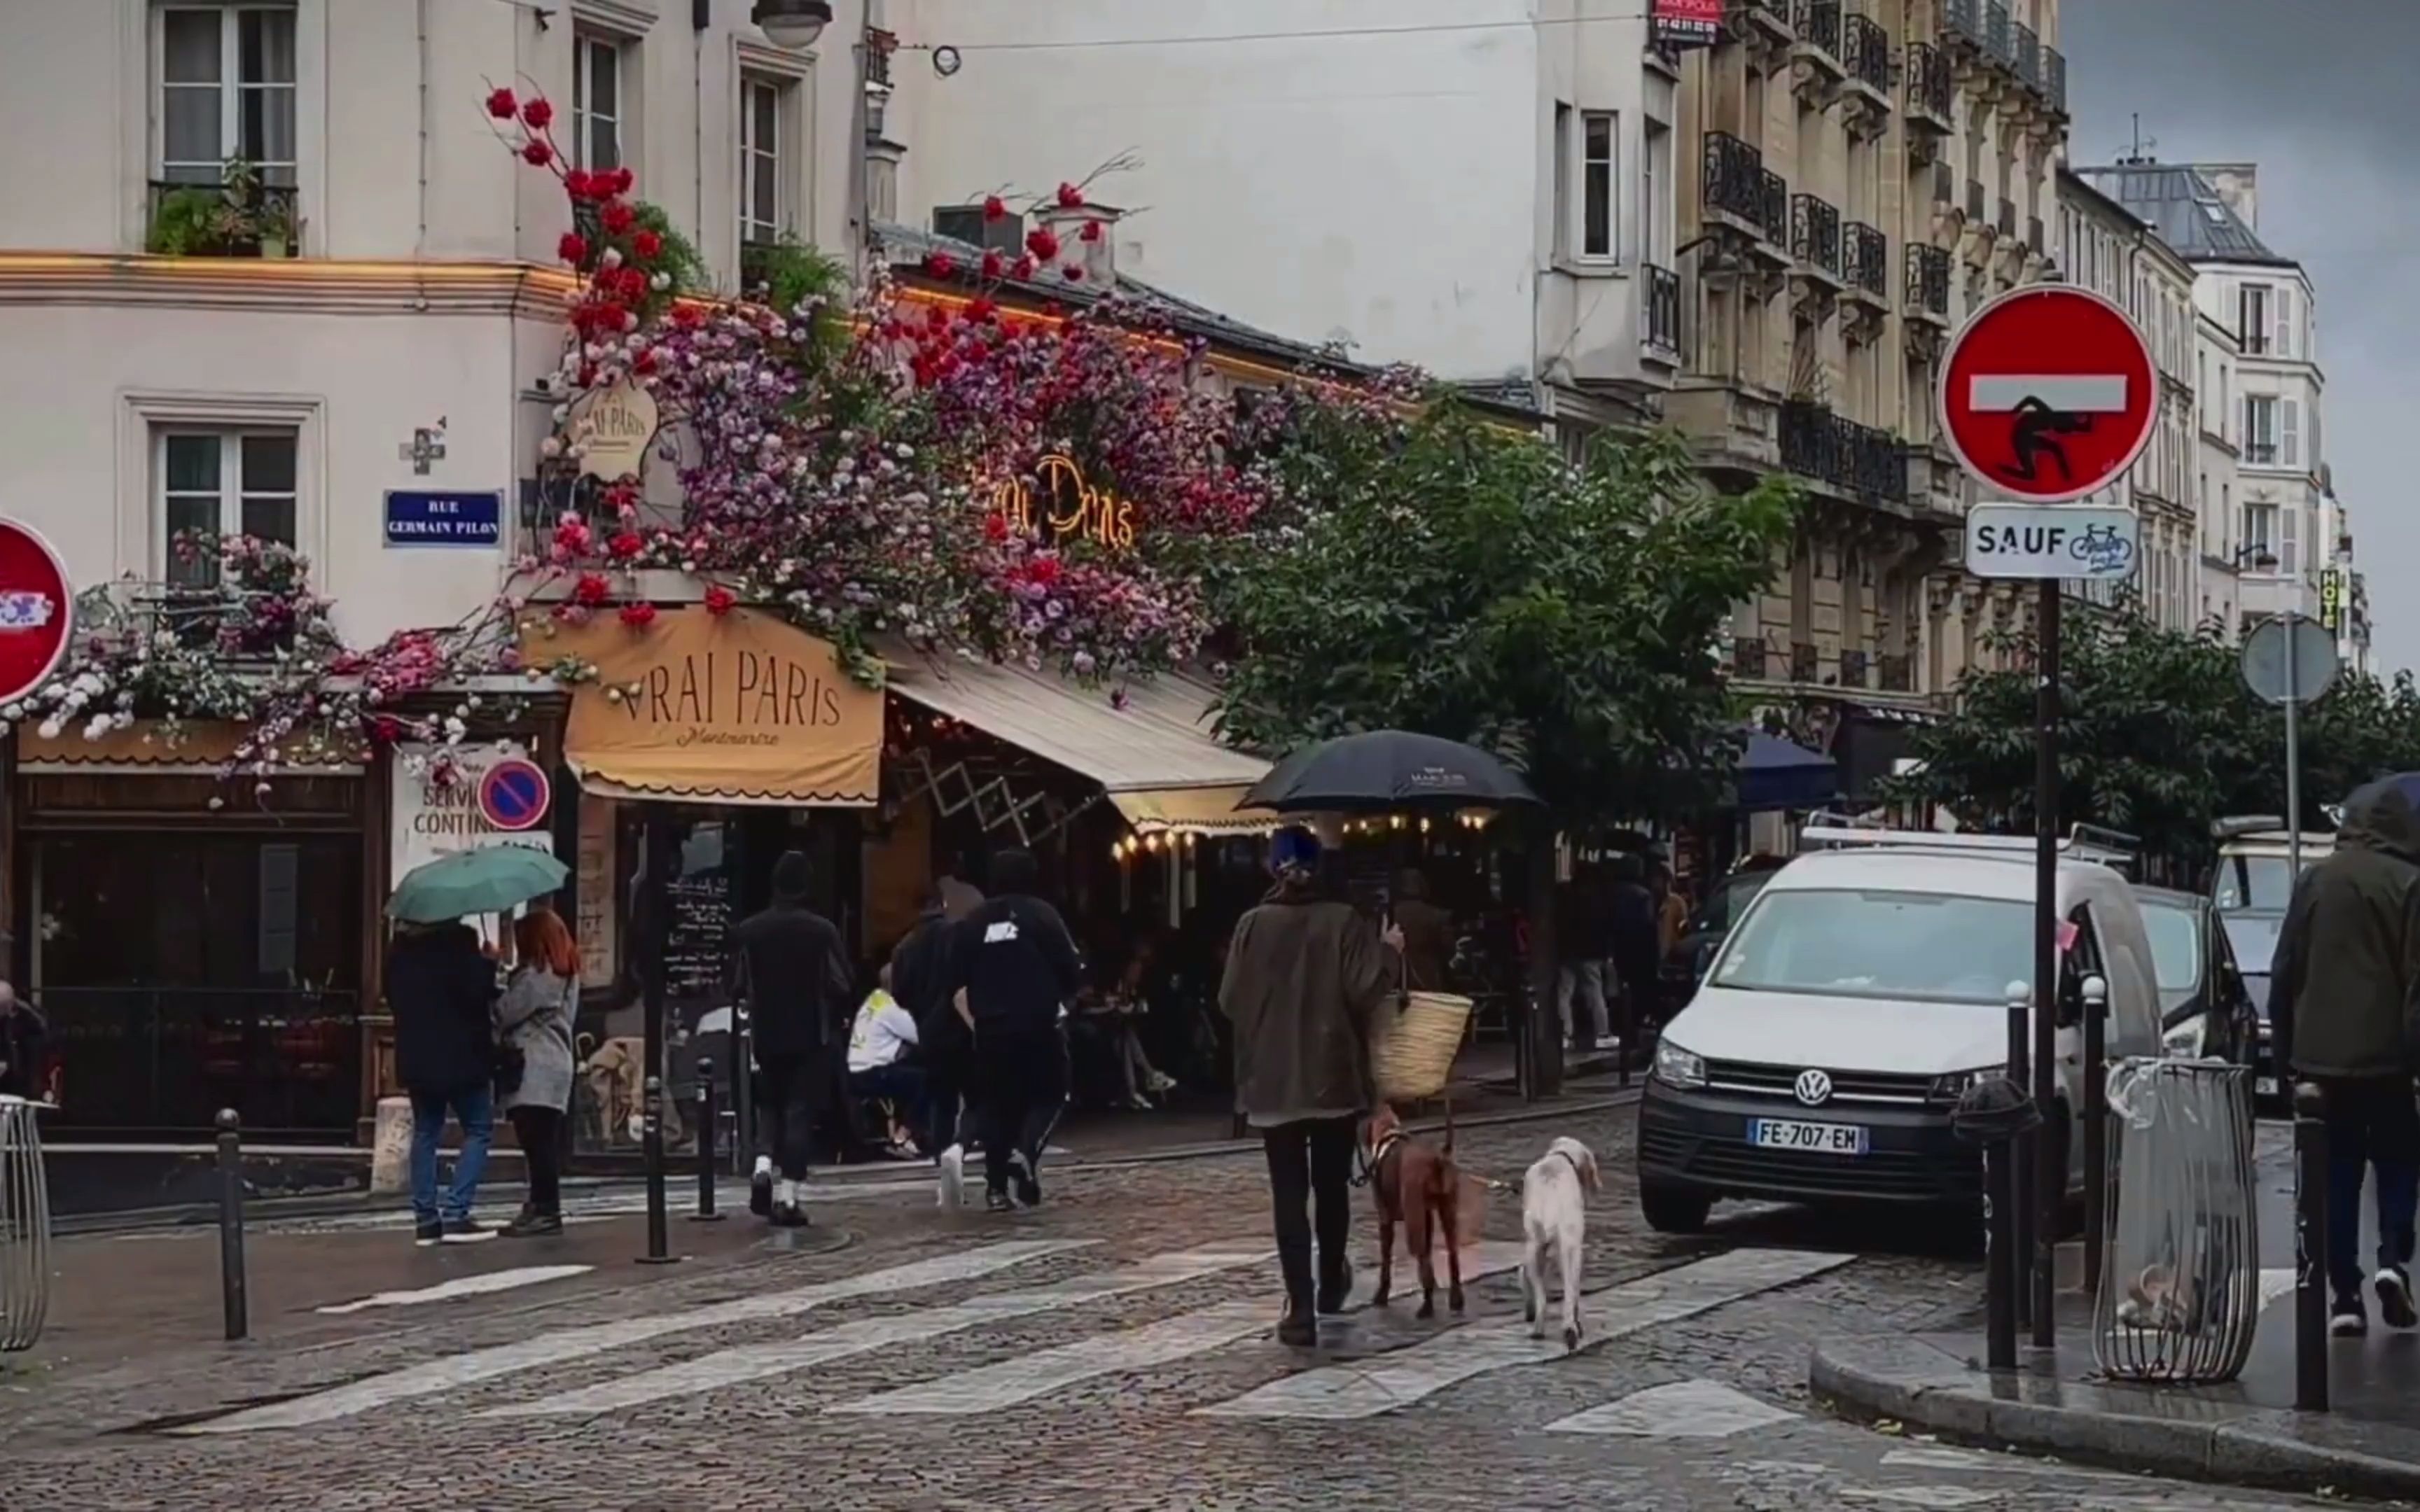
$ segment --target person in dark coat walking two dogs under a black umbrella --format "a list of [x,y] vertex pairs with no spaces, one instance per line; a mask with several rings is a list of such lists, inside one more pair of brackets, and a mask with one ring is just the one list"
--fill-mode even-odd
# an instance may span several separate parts
[[[1278,1340],[1316,1345],[1353,1289],[1353,1139],[1372,1106],[1370,1014],[1401,980],[1404,931],[1370,927],[1319,878],[1319,837],[1270,839],[1278,885],[1227,943],[1217,1006],[1234,1023],[1234,1106],[1261,1132],[1285,1272]],[[1319,1289],[1312,1292],[1316,1210]]]

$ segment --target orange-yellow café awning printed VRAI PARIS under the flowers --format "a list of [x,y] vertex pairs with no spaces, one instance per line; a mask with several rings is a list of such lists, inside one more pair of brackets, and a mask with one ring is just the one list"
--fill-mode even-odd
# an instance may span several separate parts
[[881,801],[883,694],[828,641],[757,610],[663,610],[542,622],[523,660],[595,668],[571,694],[564,760],[607,798],[871,808]]

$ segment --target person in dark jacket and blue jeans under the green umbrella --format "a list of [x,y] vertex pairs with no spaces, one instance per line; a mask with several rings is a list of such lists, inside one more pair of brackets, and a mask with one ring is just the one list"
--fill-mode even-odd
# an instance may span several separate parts
[[[414,1243],[494,1239],[469,1217],[496,1127],[496,963],[460,919],[402,924],[387,951],[387,1006],[394,1011],[394,1072],[411,1093]],[[445,1115],[462,1125],[453,1185],[438,1193]]]

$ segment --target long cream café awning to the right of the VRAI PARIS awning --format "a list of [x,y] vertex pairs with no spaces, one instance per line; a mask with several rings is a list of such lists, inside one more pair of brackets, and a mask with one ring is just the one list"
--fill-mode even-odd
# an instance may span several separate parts
[[891,648],[888,660],[891,692],[1089,777],[1137,830],[1254,835],[1273,825],[1266,813],[1234,813],[1268,762],[1217,743],[1217,694],[1203,682],[1164,673],[1113,699],[1031,668],[908,648]]

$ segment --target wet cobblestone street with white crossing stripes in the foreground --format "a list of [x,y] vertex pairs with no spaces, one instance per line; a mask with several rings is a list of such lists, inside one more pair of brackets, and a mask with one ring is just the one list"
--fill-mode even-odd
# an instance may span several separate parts
[[[1464,1318],[1416,1321],[1399,1287],[1319,1355],[1278,1347],[1249,1156],[1070,1171],[1016,1217],[835,1185],[825,1231],[680,1224],[697,1256],[668,1270],[629,1265],[629,1217],[469,1251],[271,1231],[249,1345],[201,1343],[215,1246],[77,1241],[70,1272],[133,1253],[189,1268],[201,1316],[97,1347],[106,1331],[70,1314],[75,1357],[10,1367],[0,1507],[2284,1505],[1822,1418],[1810,1340],[1936,1326],[1972,1304],[1975,1263],[1917,1224],[1784,1210],[1653,1236],[1626,1125],[1571,1130],[1607,1173],[1575,1357],[1520,1326],[1512,1193],[1491,1202]],[[1517,1181],[1551,1132],[1467,1130],[1459,1156]],[[1367,1229],[1358,1214],[1358,1246]],[[375,1285],[324,1260],[307,1297],[281,1292],[286,1256],[329,1246]]]

